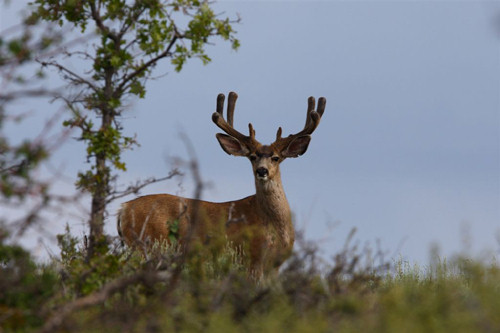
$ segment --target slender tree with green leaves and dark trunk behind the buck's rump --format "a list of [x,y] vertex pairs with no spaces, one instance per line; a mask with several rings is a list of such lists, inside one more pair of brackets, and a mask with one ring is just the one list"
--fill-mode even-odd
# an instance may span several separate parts
[[[199,0],[36,0],[33,19],[77,28],[93,38],[90,47],[65,51],[65,57],[83,61],[81,71],[67,67],[62,58],[42,61],[56,68],[72,87],[61,96],[71,111],[65,126],[78,128],[91,166],[78,174],[77,186],[92,197],[89,220],[89,255],[103,237],[106,206],[123,195],[113,189],[117,171],[126,169],[122,152],[136,144],[123,135],[121,115],[125,101],[144,98],[146,81],[159,61],[170,59],[180,71],[187,59],[210,61],[205,52],[213,37],[238,48],[232,28],[235,20],[220,18],[208,1]],[[77,34],[78,32],[72,33]],[[91,31],[88,34],[88,31]],[[89,74],[90,73],[90,74]]]

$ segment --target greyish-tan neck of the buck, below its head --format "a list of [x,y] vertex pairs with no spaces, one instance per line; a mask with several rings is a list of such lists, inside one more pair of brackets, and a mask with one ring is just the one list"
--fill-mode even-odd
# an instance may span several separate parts
[[255,187],[258,211],[264,223],[272,224],[285,244],[293,243],[292,216],[280,174],[265,182],[256,179]]

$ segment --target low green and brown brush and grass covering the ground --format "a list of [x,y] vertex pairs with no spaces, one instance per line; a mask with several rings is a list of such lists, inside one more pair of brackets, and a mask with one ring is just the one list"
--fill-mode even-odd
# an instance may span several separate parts
[[87,261],[68,232],[61,256],[40,265],[3,240],[6,332],[500,330],[500,268],[464,258],[389,269],[355,246],[330,263],[304,246],[280,274],[255,281],[230,247],[182,255],[176,246],[140,253],[115,245]]

